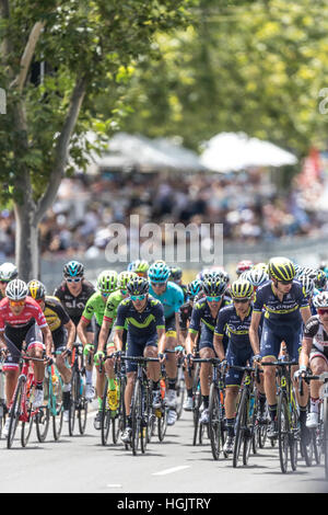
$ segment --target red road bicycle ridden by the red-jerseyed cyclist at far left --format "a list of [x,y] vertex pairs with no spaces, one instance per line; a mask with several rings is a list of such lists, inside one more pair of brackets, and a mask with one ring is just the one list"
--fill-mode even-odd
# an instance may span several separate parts
[[22,447],[26,447],[32,433],[33,422],[39,412],[39,408],[33,408],[35,396],[33,363],[35,362],[44,362],[44,359],[25,356],[23,354],[20,356],[21,374],[17,379],[9,413],[10,424],[7,437],[7,447],[9,449],[13,445],[19,422],[22,422],[21,444]]

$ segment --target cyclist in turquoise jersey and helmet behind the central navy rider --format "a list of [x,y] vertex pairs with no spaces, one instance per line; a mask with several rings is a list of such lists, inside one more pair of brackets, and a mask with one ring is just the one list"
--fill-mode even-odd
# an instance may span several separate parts
[[[181,288],[175,283],[168,282],[169,267],[162,261],[153,263],[149,271],[148,276],[150,279],[150,295],[160,300],[164,307],[165,317],[165,350],[175,350],[180,341],[179,335],[179,309],[184,304],[184,293]],[[163,354],[164,347],[159,346],[160,354]],[[162,356],[161,356],[162,357]],[[176,422],[176,380],[177,380],[177,364],[176,356],[168,354],[165,362],[167,374],[167,425],[173,425]]]

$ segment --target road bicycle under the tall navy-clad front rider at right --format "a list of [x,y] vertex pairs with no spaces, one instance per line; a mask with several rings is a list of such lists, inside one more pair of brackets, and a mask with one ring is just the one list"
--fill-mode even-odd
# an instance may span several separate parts
[[292,470],[297,468],[298,444],[301,440],[301,427],[298,420],[298,405],[295,390],[291,379],[292,366],[297,362],[262,362],[261,366],[277,367],[278,379],[278,444],[280,468],[283,473],[288,471],[289,456]]

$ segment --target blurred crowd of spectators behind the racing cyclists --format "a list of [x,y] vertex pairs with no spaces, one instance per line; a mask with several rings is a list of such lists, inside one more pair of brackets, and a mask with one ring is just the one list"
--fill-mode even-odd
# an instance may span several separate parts
[[[328,228],[326,215],[307,209],[296,186],[286,197],[278,195],[269,175],[258,170],[215,175],[79,174],[62,181],[40,225],[42,254],[97,256],[113,236],[109,225],[128,226],[130,215],[139,215],[140,226],[223,224],[224,241],[245,243],[318,236]],[[13,214],[4,209],[0,259],[13,255],[14,232]]]

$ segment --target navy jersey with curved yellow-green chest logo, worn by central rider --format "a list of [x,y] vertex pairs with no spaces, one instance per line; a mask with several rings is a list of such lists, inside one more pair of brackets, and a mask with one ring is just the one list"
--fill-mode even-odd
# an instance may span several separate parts
[[125,329],[128,335],[137,340],[149,340],[157,335],[157,329],[165,329],[164,308],[160,300],[149,296],[142,312],[137,311],[130,298],[122,300],[117,308],[115,329]]

